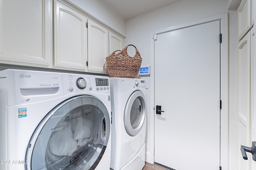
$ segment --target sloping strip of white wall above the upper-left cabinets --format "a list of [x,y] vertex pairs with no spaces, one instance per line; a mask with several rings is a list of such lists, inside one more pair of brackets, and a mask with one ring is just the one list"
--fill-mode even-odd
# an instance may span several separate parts
[[125,20],[102,0],[67,0],[125,36]]

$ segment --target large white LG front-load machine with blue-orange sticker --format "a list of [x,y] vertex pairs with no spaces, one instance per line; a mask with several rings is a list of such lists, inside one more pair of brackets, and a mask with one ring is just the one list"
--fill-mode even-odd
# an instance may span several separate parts
[[1,170],[109,170],[105,76],[0,72]]

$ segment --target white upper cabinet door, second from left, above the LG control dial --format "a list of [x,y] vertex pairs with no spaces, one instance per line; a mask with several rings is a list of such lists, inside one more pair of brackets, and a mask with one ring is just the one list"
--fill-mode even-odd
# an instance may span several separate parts
[[55,1],[54,65],[86,71],[87,18]]

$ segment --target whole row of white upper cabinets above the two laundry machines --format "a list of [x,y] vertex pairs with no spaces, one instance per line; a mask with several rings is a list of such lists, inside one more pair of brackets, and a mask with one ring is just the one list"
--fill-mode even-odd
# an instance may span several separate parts
[[0,9],[0,63],[106,74],[106,57],[123,47],[66,0],[0,0]]

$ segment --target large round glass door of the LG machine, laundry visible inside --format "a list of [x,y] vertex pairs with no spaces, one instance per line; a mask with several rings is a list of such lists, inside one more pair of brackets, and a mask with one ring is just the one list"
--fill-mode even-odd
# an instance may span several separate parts
[[92,96],[72,97],[40,122],[26,151],[27,170],[94,169],[108,144],[110,117]]

